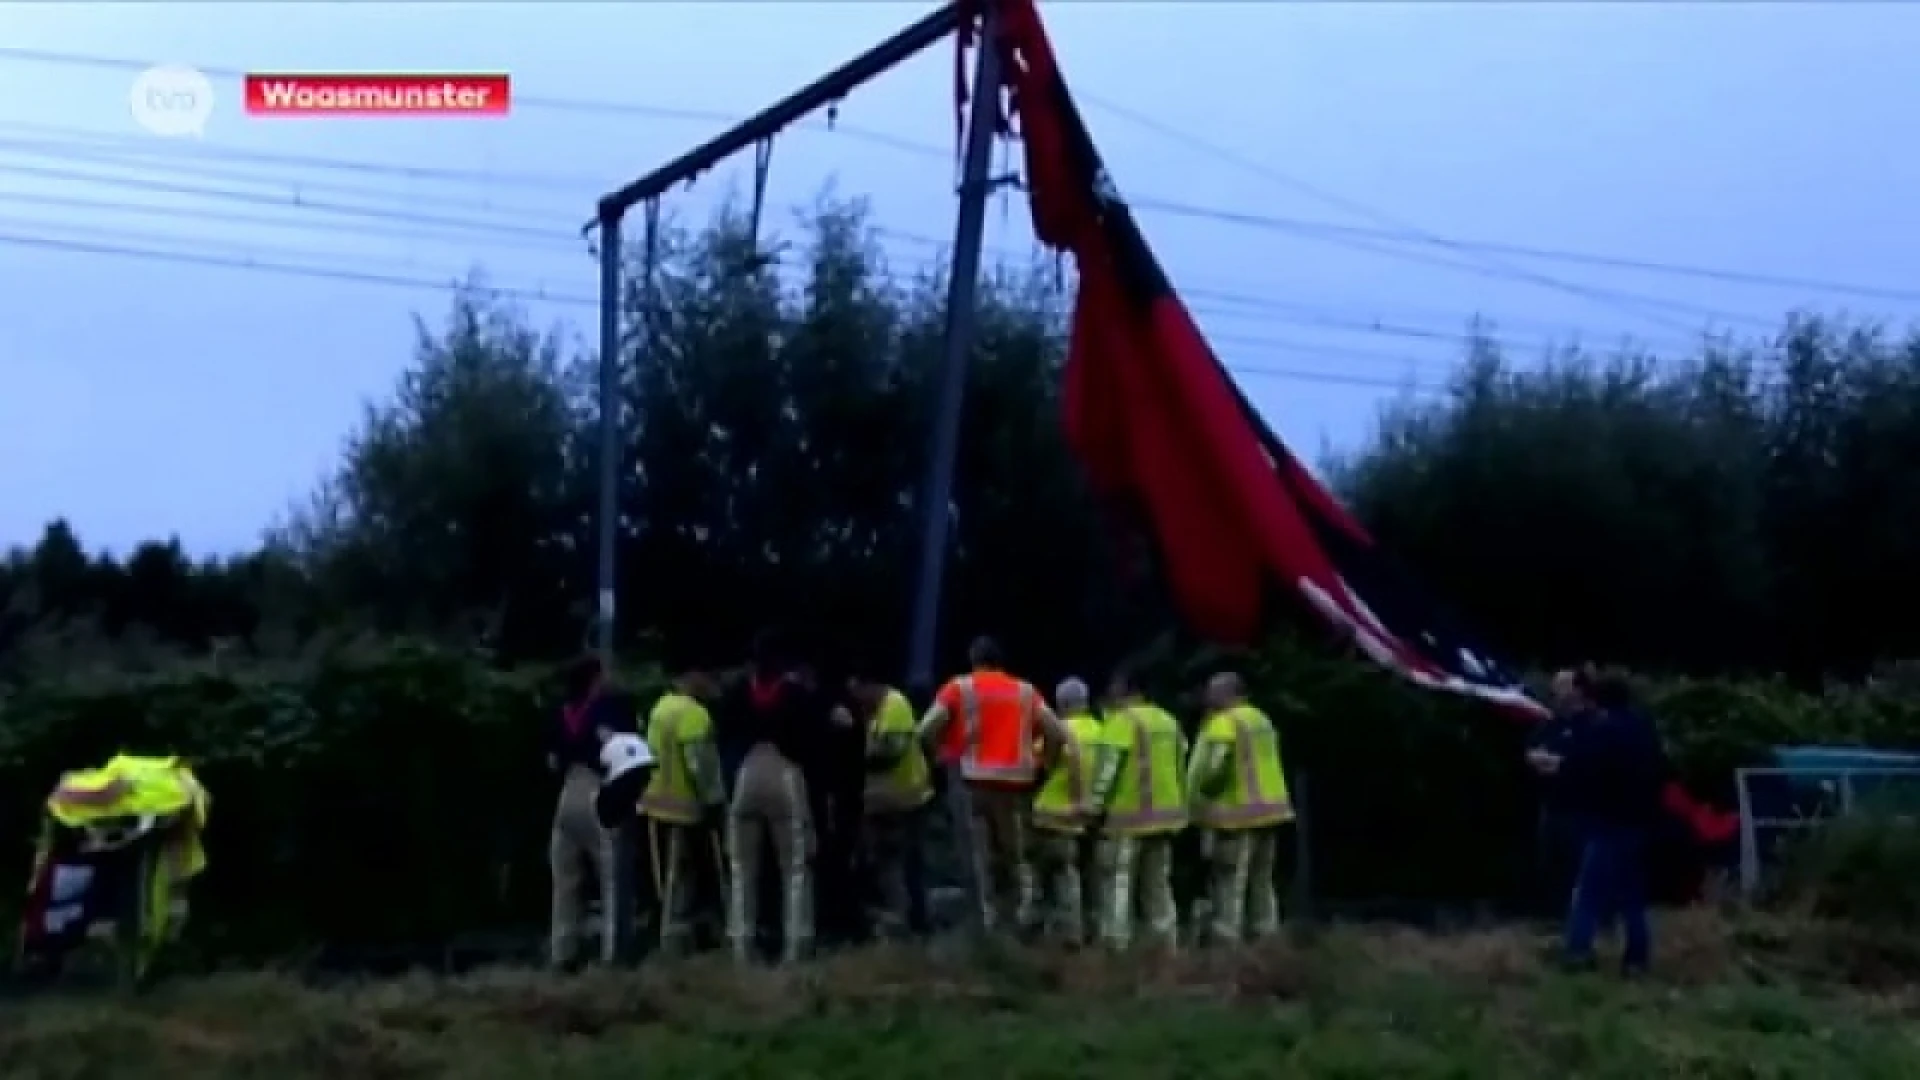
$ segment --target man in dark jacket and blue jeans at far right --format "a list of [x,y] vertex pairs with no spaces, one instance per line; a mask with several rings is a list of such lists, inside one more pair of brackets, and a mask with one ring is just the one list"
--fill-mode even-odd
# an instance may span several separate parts
[[1567,911],[1565,959],[1592,967],[1594,940],[1619,922],[1620,969],[1638,974],[1653,959],[1647,917],[1647,836],[1661,813],[1667,753],[1651,719],[1632,701],[1624,676],[1576,673],[1596,715],[1559,749],[1534,749],[1528,763],[1555,776],[1586,821],[1586,838]]

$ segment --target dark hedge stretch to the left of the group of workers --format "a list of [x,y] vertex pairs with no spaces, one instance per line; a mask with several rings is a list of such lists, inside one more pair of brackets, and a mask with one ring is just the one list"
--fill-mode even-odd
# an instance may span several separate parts
[[215,799],[196,920],[223,947],[499,926],[545,890],[547,684],[401,642],[286,669],[25,688],[0,711],[8,867],[61,769],[182,753]]

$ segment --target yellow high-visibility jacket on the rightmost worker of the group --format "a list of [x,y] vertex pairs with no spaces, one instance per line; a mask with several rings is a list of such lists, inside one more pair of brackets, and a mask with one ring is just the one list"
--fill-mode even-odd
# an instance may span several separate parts
[[1206,719],[1187,767],[1187,790],[1194,822],[1206,828],[1261,828],[1294,819],[1279,730],[1252,705]]

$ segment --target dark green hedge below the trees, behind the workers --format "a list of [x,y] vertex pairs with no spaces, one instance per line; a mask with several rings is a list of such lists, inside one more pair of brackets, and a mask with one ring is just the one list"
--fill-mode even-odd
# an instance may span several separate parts
[[[1169,703],[1190,673],[1156,673]],[[221,951],[420,945],[538,924],[553,811],[538,751],[555,705],[549,675],[397,642],[298,669],[12,690],[0,698],[6,872],[25,872],[38,803],[63,769],[117,749],[173,751],[198,763],[215,799],[196,922]],[[1317,897],[1521,890],[1521,724],[1311,650],[1269,650],[1250,678],[1283,723],[1290,769],[1309,776]],[[1776,744],[1920,742],[1920,703],[1889,688],[1814,698],[1688,680],[1649,684],[1647,698],[1709,796],[1728,796],[1732,767]]]

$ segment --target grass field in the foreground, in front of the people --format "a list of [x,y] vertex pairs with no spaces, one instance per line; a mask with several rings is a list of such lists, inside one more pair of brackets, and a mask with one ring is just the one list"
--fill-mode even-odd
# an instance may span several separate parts
[[0,1007],[0,1076],[1788,1078],[1920,1076],[1920,951],[1834,924],[1668,917],[1644,982],[1519,930],[1331,930],[1162,961],[870,949],[311,988],[250,974]]

